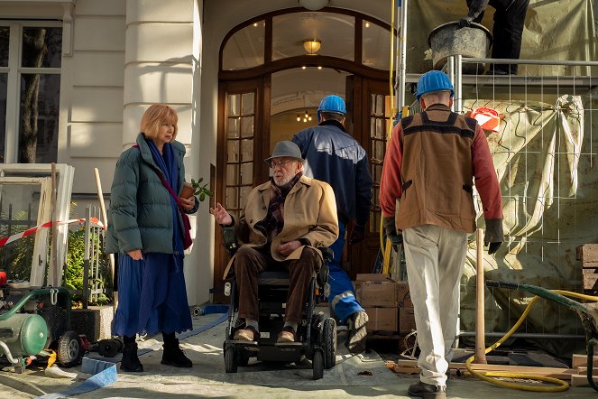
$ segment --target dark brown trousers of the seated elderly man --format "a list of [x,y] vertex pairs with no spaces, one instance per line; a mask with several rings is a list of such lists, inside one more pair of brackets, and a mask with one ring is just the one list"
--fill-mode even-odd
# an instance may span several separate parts
[[289,292],[285,308],[285,321],[299,322],[303,305],[308,299],[309,281],[314,270],[319,270],[321,260],[317,252],[303,248],[299,259],[278,262],[270,251],[260,251],[250,246],[241,246],[235,255],[235,276],[239,292],[239,318],[259,320],[257,277],[260,272],[280,268],[290,274]]

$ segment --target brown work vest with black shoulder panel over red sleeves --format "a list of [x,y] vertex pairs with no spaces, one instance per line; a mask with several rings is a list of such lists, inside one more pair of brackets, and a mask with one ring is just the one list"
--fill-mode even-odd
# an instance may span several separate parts
[[475,231],[472,144],[475,119],[442,105],[400,120],[403,160],[397,225]]

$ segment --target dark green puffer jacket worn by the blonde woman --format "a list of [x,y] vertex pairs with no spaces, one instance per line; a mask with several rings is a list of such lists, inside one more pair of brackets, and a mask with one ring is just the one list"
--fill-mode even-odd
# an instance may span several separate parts
[[[137,144],[139,148],[124,151],[116,162],[110,193],[106,253],[125,254],[141,249],[143,253],[172,254],[170,192],[156,174],[156,171],[161,173],[160,168],[153,161],[150,147],[142,134],[137,136]],[[185,146],[177,141],[171,145],[179,164],[179,187],[182,190]],[[198,206],[196,198],[194,209],[187,213],[195,213]],[[179,218],[182,227],[180,214]]]

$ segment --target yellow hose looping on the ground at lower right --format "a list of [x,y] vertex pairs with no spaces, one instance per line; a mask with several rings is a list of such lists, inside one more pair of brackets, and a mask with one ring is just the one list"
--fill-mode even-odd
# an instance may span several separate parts
[[[583,293],[569,292],[569,291],[562,291],[562,290],[552,290],[552,292],[557,292],[557,293],[560,293],[561,295],[575,297],[575,298],[583,299],[586,301],[598,302],[598,296],[584,295]],[[540,299],[540,297],[538,297],[538,296],[535,296],[534,298],[532,298],[532,300],[529,302],[528,306],[525,308],[525,311],[523,311],[523,314],[521,314],[520,319],[517,320],[517,322],[515,323],[515,325],[505,334],[504,337],[499,339],[491,347],[486,348],[484,350],[484,353],[487,354],[487,353],[491,352],[492,349],[500,347],[504,341],[509,339],[509,337],[511,337],[511,335],[517,329],[519,329],[523,320],[528,316],[528,313],[531,310],[531,307],[536,302],[538,302],[539,299]],[[474,358],[475,358],[475,355],[472,357],[469,357],[465,361],[465,367],[467,367],[467,371],[469,371],[473,376],[476,376],[476,377],[478,377],[490,384],[493,384],[493,385],[499,385],[499,386],[503,386],[506,388],[512,388],[512,389],[520,389],[521,391],[533,391],[533,392],[561,392],[561,391],[566,391],[567,389],[569,389],[569,384],[567,384],[566,381],[559,380],[558,378],[552,378],[549,376],[529,376],[526,374],[509,373],[509,372],[504,372],[504,371],[475,371],[471,367],[471,363],[472,363],[472,361],[474,361]],[[492,378],[492,377],[521,378],[521,379],[542,381],[542,382],[546,382],[546,383],[550,383],[550,384],[555,384],[557,386],[521,385],[521,384],[511,383],[508,381],[501,381],[499,379]]]

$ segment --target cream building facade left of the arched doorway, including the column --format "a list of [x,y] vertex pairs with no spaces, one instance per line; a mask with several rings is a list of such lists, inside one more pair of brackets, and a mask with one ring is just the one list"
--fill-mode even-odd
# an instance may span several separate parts
[[[97,203],[94,168],[104,192],[110,191],[115,162],[134,143],[152,103],[169,103],[179,112],[178,139],[188,147],[186,178],[198,176],[202,0],[19,3],[0,0],[0,18],[64,19],[65,27],[72,21],[72,36],[63,31],[63,42],[72,41],[63,48],[58,160],[75,166],[72,191],[84,194],[78,214],[87,202]],[[191,305],[206,302],[211,287],[211,277],[205,279],[209,286],[196,286],[201,279],[190,264],[198,257],[197,247],[186,257]]]

